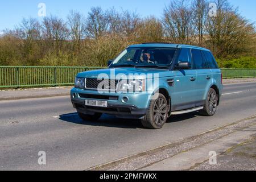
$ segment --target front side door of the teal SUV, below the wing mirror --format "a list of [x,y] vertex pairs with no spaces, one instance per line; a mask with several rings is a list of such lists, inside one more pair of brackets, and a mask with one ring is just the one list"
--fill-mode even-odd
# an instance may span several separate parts
[[[193,69],[191,49],[181,48],[177,63],[190,62],[191,69],[177,70],[175,72],[174,93],[172,94],[172,110],[184,110],[195,107],[196,93],[196,70]],[[177,64],[176,63],[176,64]]]

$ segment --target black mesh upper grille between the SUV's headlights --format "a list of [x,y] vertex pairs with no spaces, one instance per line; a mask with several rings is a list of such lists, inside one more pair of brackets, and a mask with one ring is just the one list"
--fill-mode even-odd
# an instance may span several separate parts
[[[99,84],[101,84],[100,88],[98,88]],[[118,80],[109,80],[109,79],[98,80],[97,78],[86,78],[85,89],[115,90],[117,88],[117,84],[118,84]]]

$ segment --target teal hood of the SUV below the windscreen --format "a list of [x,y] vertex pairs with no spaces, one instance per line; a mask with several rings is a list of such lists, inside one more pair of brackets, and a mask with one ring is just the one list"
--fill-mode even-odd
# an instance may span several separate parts
[[146,79],[150,76],[152,78],[156,77],[170,77],[174,76],[173,71],[168,71],[166,69],[154,69],[154,68],[111,68],[111,69],[98,69],[94,71],[81,72],[77,77],[82,78],[114,78],[117,75],[135,75],[137,79]]

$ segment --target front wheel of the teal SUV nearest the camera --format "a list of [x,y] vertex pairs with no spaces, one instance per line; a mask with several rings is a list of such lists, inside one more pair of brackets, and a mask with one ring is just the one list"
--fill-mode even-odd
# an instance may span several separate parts
[[147,129],[160,129],[166,123],[168,117],[168,102],[163,94],[159,93],[156,100],[151,100],[142,119],[142,125]]

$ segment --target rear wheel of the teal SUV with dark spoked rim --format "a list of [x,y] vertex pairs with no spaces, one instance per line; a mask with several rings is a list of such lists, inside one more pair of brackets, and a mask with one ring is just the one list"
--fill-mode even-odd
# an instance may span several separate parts
[[201,110],[201,114],[206,116],[212,116],[216,113],[218,105],[218,94],[212,88],[210,88],[207,100],[205,100],[204,109]]

